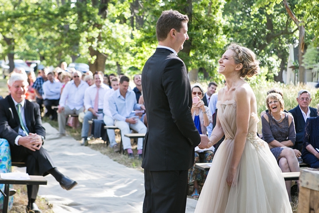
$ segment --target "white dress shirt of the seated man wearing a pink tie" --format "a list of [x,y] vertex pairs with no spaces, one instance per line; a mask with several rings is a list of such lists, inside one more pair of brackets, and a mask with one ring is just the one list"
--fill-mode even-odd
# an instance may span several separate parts
[[[104,104],[104,95],[107,90],[110,90],[108,86],[105,84],[101,83],[100,89],[99,89],[99,106],[98,109],[103,109],[103,104]],[[94,102],[95,102],[95,96],[96,96],[96,91],[97,87],[96,85],[92,85],[88,87],[85,90],[84,93],[84,107],[86,110],[89,108],[94,108]]]

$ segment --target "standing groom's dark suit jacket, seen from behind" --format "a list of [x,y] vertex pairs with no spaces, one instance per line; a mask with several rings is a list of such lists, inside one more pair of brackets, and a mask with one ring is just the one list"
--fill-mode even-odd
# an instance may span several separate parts
[[142,167],[150,171],[188,170],[200,135],[191,117],[192,98],[184,62],[157,48],[142,72],[148,132]]

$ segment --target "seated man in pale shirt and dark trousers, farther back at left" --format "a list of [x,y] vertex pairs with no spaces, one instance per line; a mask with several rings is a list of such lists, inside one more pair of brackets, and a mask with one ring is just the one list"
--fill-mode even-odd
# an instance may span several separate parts
[[48,80],[43,83],[43,103],[48,110],[46,116],[52,116],[51,120],[57,120],[56,109],[52,109],[52,106],[59,105],[60,93],[62,84],[54,79],[53,72],[48,73]]

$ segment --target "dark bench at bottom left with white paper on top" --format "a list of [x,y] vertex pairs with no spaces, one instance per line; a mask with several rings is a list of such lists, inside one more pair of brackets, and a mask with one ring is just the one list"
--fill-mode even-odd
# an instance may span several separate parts
[[30,180],[3,180],[0,178],[0,184],[4,184],[4,192],[0,190],[3,195],[3,209],[2,213],[8,213],[9,207],[9,184],[17,185],[46,185],[47,180],[43,176],[29,175]]

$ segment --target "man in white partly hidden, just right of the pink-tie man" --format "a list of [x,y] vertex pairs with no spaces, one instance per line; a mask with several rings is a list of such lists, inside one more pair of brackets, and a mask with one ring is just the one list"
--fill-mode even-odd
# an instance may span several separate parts
[[[111,112],[109,111],[108,106],[108,99],[109,97],[119,88],[119,82],[117,78],[113,78],[110,82],[110,85],[112,89],[106,91],[104,95],[104,106],[103,106],[103,114],[104,118],[103,121],[107,126],[113,126],[114,125],[114,119],[112,117]],[[107,136],[110,143],[110,147],[113,148],[114,152],[120,152],[120,148],[118,147],[116,141],[115,141],[115,132],[113,129],[107,129]]]

